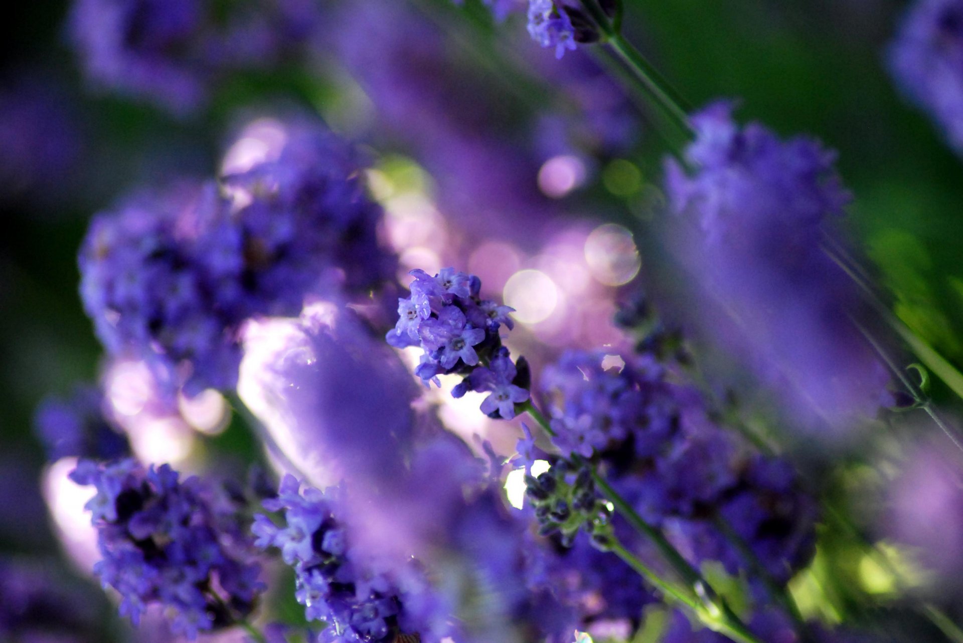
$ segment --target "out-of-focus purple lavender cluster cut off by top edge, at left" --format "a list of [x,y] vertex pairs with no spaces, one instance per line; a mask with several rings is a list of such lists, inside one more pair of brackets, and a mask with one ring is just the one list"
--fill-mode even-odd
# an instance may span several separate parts
[[206,102],[224,72],[299,53],[321,15],[307,0],[268,0],[219,16],[206,0],[76,0],[70,36],[91,81],[175,115]]

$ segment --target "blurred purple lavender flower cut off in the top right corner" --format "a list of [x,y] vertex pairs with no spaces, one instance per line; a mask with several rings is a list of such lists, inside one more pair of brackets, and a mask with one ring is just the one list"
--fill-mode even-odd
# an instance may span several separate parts
[[918,0],[887,51],[906,97],[924,109],[963,151],[963,2]]

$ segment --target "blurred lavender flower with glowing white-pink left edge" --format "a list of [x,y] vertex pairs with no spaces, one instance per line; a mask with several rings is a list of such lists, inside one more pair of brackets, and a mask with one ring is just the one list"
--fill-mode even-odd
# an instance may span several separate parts
[[417,386],[356,315],[320,304],[254,324],[246,353],[238,392],[302,471],[366,493],[397,484]]

